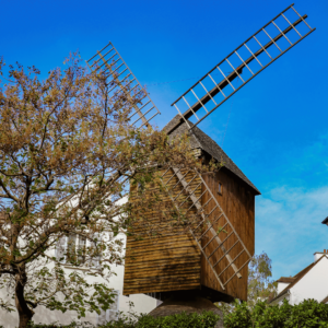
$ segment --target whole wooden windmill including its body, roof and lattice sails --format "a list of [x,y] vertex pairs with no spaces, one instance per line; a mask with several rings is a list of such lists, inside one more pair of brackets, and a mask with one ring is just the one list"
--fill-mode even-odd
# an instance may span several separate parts
[[[149,293],[165,300],[172,293],[199,291],[212,302],[247,300],[247,265],[254,255],[255,196],[259,191],[197,125],[314,32],[306,19],[290,5],[172,104],[178,115],[165,131],[171,137],[188,131],[199,159],[207,163],[213,157],[224,167],[215,176],[175,167],[162,173],[174,206],[197,213],[199,222],[185,234],[162,234],[155,245],[151,239],[128,237],[124,294]],[[121,92],[126,92],[125,83],[132,85],[131,90],[143,90],[112,43],[87,63],[91,69],[108,70]],[[144,91],[142,104],[136,105],[130,116],[131,125],[150,125],[156,114],[159,109]]]

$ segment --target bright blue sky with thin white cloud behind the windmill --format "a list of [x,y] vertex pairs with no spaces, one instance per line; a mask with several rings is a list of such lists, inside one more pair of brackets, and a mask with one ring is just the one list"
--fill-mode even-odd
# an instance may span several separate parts
[[[171,104],[181,93],[291,2],[0,4],[0,56],[8,63],[35,65],[46,74],[70,51],[89,59],[112,40],[147,85],[163,127],[176,115]],[[262,192],[256,200],[256,253],[268,253],[274,279],[295,274],[314,251],[328,248],[328,227],[320,223],[328,215],[328,1],[298,0],[295,9],[317,31],[200,125]]]

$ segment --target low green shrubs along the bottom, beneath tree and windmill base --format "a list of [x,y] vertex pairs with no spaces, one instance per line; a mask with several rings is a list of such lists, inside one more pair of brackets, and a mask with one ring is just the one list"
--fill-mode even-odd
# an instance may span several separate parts
[[[220,316],[212,312],[202,314],[176,314],[166,317],[154,318],[149,315],[134,317],[121,316],[117,321],[110,321],[98,328],[213,328]],[[72,323],[69,326],[57,325],[31,325],[30,328],[92,328],[89,324]]]

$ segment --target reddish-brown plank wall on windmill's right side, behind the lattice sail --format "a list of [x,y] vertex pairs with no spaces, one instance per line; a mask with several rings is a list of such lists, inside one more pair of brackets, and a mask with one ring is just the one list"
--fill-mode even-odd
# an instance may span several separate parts
[[[244,183],[241,181],[235,175],[231,174],[227,169],[222,168],[215,176],[213,175],[203,175],[203,179],[207,185],[212,190],[212,194],[215,196],[218,202],[220,203],[222,210],[227,215],[229,220],[231,221],[232,225],[234,226],[235,231],[244,242],[248,251],[254,255],[255,250],[255,195],[254,191]],[[222,195],[219,191],[219,183],[222,185]],[[202,202],[204,203],[208,200],[208,194],[204,195]],[[209,203],[210,208],[213,208],[214,201]],[[209,209],[210,210],[210,209]],[[219,210],[215,210],[210,215],[210,221],[218,218],[220,214]],[[225,224],[225,219],[221,218],[215,224],[215,231],[219,227],[222,227]],[[224,229],[225,232],[221,232],[219,237],[221,241],[227,237],[227,235],[232,232],[232,230],[226,226]],[[202,239],[202,245],[204,246],[211,235],[209,234]],[[235,234],[232,234],[231,237],[224,242],[225,249],[230,249],[235,242],[237,241]],[[211,243],[207,247],[207,254],[211,254],[214,250],[216,244]],[[234,259],[241,251],[243,250],[241,243],[235,245],[232,250],[229,253]],[[219,248],[215,254],[211,257],[212,263],[215,263],[220,258],[223,256],[223,250]],[[237,268],[241,268],[243,263],[248,259],[246,253],[243,253],[234,262]],[[230,266],[229,261],[225,257],[219,262],[215,267],[215,271],[220,276],[220,279],[226,282],[233,274],[234,270]],[[223,270],[225,271],[221,273]],[[248,266],[245,266],[241,272],[242,278],[238,279],[236,276],[226,284],[225,290],[222,290],[220,283],[214,277],[210,266],[206,261],[204,258],[201,259],[201,284],[208,286],[210,289],[220,291],[224,294],[229,294],[235,298],[239,298],[243,301],[247,300],[247,276],[248,276]]]

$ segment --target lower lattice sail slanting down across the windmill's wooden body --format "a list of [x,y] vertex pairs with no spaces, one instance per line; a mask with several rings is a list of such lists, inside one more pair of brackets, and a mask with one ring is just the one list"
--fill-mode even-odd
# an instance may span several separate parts
[[[187,214],[192,207],[196,208],[200,220],[196,226],[195,224],[190,225],[189,233],[196,241],[197,246],[210,266],[222,290],[225,290],[226,284],[235,276],[238,279],[242,278],[239,272],[248,265],[253,256],[222,210],[218,199],[214,197],[203,177],[196,173],[186,179],[189,174],[190,172],[183,172],[179,168],[171,167],[162,176],[163,185],[165,187],[173,178],[177,178],[183,188],[177,195],[175,195],[176,192],[174,191],[177,184],[168,190],[176,209],[180,210],[190,201],[192,206],[185,209],[186,212],[184,213]],[[190,188],[195,179],[200,183],[197,184],[195,188]],[[202,203],[203,198],[208,199],[204,203]],[[224,238],[222,238],[221,232],[226,233],[226,235],[223,234]],[[210,250],[209,246],[211,246],[211,248],[214,247],[214,250]],[[237,255],[232,257],[233,254],[236,254],[236,250]]]

